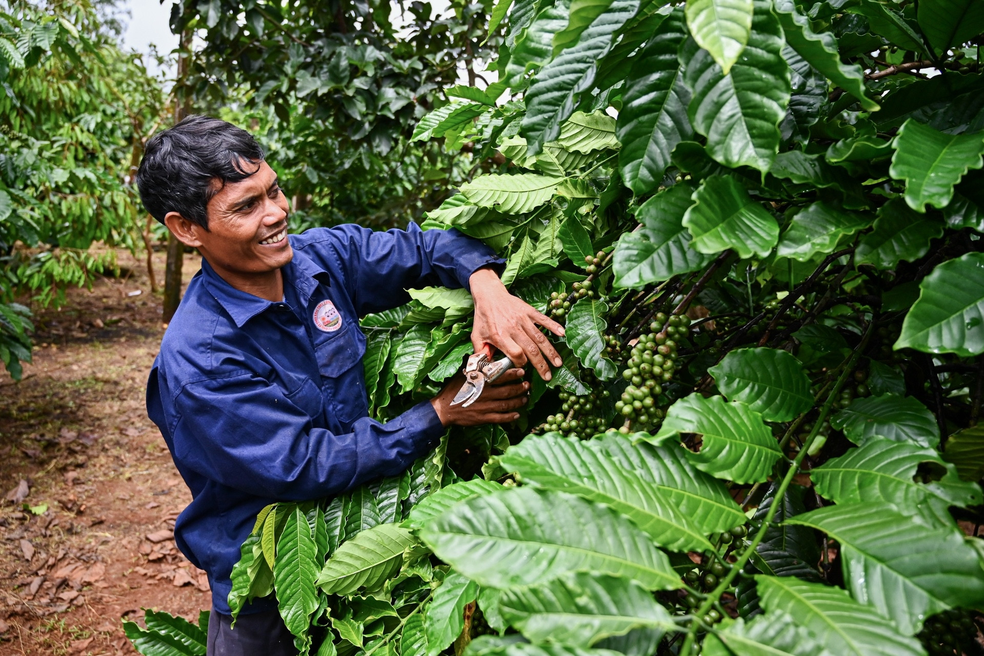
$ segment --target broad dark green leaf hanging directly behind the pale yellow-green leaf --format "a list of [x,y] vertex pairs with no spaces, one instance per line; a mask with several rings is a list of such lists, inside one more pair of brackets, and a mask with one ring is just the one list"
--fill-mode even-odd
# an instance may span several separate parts
[[[688,12],[693,6],[687,4]],[[748,47],[730,73],[725,74],[693,39],[684,42],[684,78],[693,91],[690,122],[707,137],[707,154],[719,164],[769,170],[792,93],[782,47],[782,28],[769,0],[755,0]]]

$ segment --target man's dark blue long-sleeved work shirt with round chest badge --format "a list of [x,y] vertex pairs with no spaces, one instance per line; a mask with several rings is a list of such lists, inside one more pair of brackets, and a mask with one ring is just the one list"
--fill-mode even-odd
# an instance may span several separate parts
[[[407,288],[467,288],[476,269],[503,264],[458,230],[415,224],[288,238],[282,302],[234,289],[202,261],[147,385],[148,414],[193,497],[174,538],[208,572],[223,614],[260,509],[399,474],[444,433],[429,401],[385,425],[369,418],[359,317],[409,301]],[[275,603],[257,600],[243,613]]]

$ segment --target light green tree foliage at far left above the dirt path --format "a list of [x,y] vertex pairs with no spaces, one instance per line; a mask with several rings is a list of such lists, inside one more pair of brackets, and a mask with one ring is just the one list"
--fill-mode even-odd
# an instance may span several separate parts
[[0,3],[0,360],[31,360],[27,307],[112,268],[144,214],[130,184],[164,96],[88,0]]

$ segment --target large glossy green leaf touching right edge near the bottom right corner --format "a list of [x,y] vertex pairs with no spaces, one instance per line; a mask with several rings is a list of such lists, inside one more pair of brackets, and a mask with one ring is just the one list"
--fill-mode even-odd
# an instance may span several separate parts
[[926,527],[891,503],[819,508],[786,521],[836,540],[853,597],[905,635],[917,633],[931,615],[984,603],[984,569],[955,527]]

